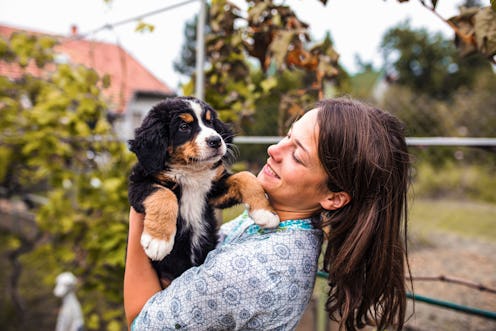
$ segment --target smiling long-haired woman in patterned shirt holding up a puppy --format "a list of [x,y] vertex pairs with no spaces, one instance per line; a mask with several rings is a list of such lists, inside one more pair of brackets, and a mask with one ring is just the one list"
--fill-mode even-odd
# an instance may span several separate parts
[[133,330],[292,330],[312,294],[323,236],[329,317],[346,330],[403,327],[409,157],[401,123],[328,99],[268,156],[258,179],[280,226],[262,230],[242,214],[221,228],[203,265],[164,290],[139,244],[143,216],[131,210],[124,306]]

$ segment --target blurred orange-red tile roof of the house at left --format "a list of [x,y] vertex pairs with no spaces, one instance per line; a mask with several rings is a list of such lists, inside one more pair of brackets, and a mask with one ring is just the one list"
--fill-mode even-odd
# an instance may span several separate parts
[[[45,34],[0,25],[0,36],[2,37],[8,38],[16,31]],[[67,56],[71,63],[93,68],[100,76],[110,75],[111,85],[103,91],[103,94],[109,99],[113,111],[117,113],[125,110],[126,105],[137,91],[174,94],[173,90],[118,45],[74,37],[51,36],[58,40],[58,44],[54,48],[55,52]],[[35,76],[41,76],[43,73],[34,63],[30,64],[26,70]],[[0,75],[17,78],[22,72],[20,66],[0,61]]]

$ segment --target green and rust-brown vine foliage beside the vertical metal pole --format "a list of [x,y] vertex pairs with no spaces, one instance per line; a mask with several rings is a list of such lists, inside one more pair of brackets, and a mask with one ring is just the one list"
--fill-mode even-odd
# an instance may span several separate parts
[[[278,78],[274,76],[299,70],[305,77],[297,87],[299,91],[275,91],[281,96],[275,125],[278,132],[285,132],[285,125],[304,112],[301,105],[308,103],[309,98],[321,97],[324,82],[336,79],[341,70],[337,64],[339,55],[329,36],[322,43],[311,45],[308,24],[300,21],[289,6],[275,1],[248,1],[247,5],[244,13],[228,0],[210,4],[205,99],[223,120],[233,123],[241,132],[246,122],[253,119],[255,109],[259,109],[259,100],[270,97],[276,88]],[[193,74],[195,26],[196,19],[185,29],[183,60],[176,64],[182,73]],[[254,81],[254,77],[260,79]],[[184,95],[193,90],[193,80],[183,86]]]

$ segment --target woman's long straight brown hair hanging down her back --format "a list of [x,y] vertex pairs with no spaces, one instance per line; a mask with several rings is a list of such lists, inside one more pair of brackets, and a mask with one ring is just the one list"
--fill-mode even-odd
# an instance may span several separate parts
[[317,104],[319,158],[328,188],[351,201],[322,214],[327,228],[329,317],[340,328],[402,329],[408,270],[409,154],[403,125],[387,112],[347,98]]

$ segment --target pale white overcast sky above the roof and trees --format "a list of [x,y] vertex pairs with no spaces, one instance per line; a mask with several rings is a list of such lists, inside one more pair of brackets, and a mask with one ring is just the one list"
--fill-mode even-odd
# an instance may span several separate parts
[[[144,22],[153,24],[151,33],[135,32],[136,22],[104,29],[88,38],[120,44],[128,53],[157,78],[180,94],[179,85],[185,77],[174,72],[184,44],[184,25],[200,9],[200,2],[187,0],[0,0],[0,24],[51,34],[69,35],[72,25],[82,34],[158,9],[175,7],[149,16]],[[246,8],[244,0],[234,0]],[[414,28],[440,32],[448,38],[453,31],[448,25],[424,8],[419,0],[399,3],[397,0],[286,0],[300,18],[310,25],[313,40],[320,41],[331,33],[340,63],[353,73],[357,70],[356,55],[374,66],[382,64],[379,45],[387,29],[405,20]],[[427,1],[430,3],[430,1]],[[458,13],[462,0],[439,0],[437,12],[444,18]],[[481,1],[484,6],[490,0]],[[186,3],[181,6],[175,6]]]

